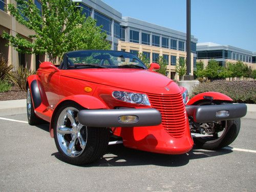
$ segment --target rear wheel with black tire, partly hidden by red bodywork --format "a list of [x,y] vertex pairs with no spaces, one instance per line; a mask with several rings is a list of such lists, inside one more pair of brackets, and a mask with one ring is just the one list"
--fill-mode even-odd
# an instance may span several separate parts
[[34,105],[32,102],[32,96],[31,96],[29,87],[27,89],[27,116],[28,116],[28,123],[30,125],[37,125],[44,122],[44,120],[40,119],[35,115]]

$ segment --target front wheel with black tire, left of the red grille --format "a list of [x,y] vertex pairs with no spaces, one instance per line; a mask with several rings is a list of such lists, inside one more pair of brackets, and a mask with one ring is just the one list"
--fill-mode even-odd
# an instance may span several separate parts
[[[72,125],[72,121],[70,120],[69,116],[66,115],[66,117],[64,117],[63,115],[65,115],[65,113],[68,114],[68,110],[72,111],[75,123],[79,126],[77,112],[82,109],[83,108],[77,103],[66,102],[65,105],[62,105],[59,109],[57,109],[58,111],[54,117],[53,123],[54,140],[58,152],[61,154],[63,161],[74,165],[88,164],[100,159],[108,148],[110,137],[109,131],[106,129],[106,127],[86,127],[80,125],[81,128],[79,128],[80,131],[78,132],[80,133],[83,141],[86,142],[84,145],[79,136],[74,136],[77,134],[75,132],[72,132],[71,134],[59,133],[58,130],[60,129],[61,125],[72,130],[77,129],[74,127],[74,125]],[[76,141],[73,141],[72,138],[74,137],[77,138]],[[68,150],[72,144],[72,141],[75,144],[73,145],[72,152],[70,153]]]

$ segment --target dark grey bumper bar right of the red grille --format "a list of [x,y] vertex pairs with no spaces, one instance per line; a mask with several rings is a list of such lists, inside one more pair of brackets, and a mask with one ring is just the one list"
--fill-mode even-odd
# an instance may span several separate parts
[[[222,112],[223,115],[218,115]],[[220,105],[187,105],[186,112],[192,116],[195,122],[206,123],[241,118],[246,115],[246,104],[220,104]],[[218,113],[217,113],[218,112]]]

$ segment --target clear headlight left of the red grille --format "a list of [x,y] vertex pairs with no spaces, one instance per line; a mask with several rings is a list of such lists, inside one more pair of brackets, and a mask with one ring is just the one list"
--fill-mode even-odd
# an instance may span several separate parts
[[113,91],[112,96],[115,99],[118,99],[118,100],[121,100],[124,102],[150,105],[150,101],[148,100],[148,98],[145,94],[130,93],[130,92],[125,92],[125,91]]

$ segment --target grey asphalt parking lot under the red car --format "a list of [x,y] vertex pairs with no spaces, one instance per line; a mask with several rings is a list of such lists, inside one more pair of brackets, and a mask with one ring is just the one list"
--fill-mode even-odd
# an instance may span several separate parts
[[161,155],[119,144],[110,146],[108,154],[87,166],[62,162],[50,137],[49,124],[30,126],[26,121],[26,114],[0,118],[0,191],[255,191],[256,188],[255,119],[242,119],[238,138],[218,152],[194,148],[184,155]]

